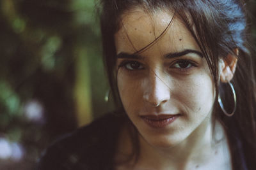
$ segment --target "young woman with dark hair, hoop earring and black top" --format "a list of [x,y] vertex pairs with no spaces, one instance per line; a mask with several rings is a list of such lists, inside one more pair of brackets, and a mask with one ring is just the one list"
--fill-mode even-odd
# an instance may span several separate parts
[[50,146],[38,169],[256,169],[244,1],[101,5],[118,110]]

